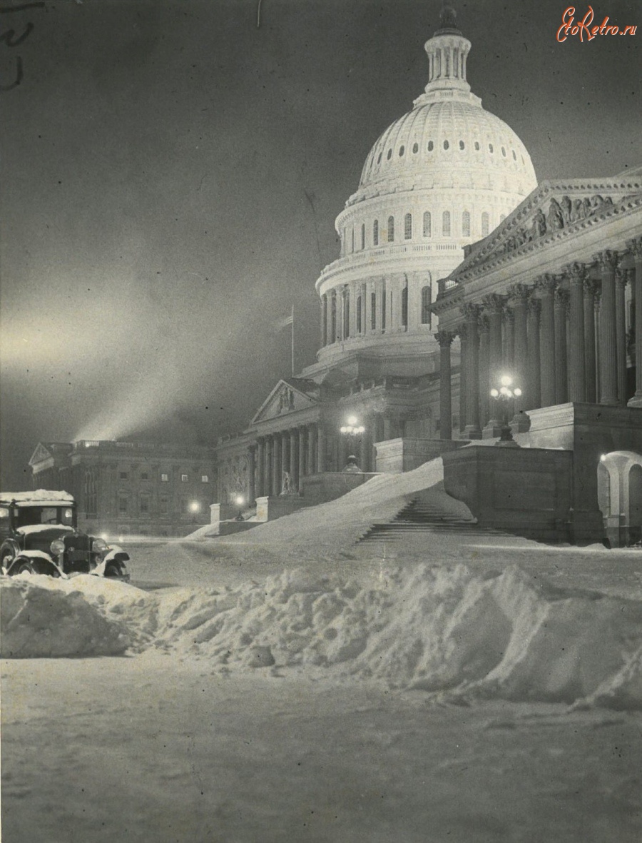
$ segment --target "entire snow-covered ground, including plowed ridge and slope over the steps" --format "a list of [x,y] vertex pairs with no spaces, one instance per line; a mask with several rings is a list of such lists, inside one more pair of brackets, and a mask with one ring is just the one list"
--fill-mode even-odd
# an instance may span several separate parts
[[4,578],[5,840],[638,841],[642,554],[355,544],[440,481]]

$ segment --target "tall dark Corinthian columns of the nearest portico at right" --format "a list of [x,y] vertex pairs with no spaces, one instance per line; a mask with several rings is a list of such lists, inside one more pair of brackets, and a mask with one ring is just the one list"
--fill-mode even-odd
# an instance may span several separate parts
[[618,268],[618,253],[595,255],[600,280],[579,262],[561,276],[544,275],[532,287],[514,284],[462,308],[457,330],[436,333],[441,352],[441,438],[452,437],[450,348],[461,339],[460,415],[464,438],[498,435],[492,418],[497,402],[490,388],[510,373],[522,389],[514,400],[518,424],[524,413],[566,401],[626,403],[625,287],[631,282],[635,307],[636,391],[642,405],[642,238],[627,244],[634,270]]

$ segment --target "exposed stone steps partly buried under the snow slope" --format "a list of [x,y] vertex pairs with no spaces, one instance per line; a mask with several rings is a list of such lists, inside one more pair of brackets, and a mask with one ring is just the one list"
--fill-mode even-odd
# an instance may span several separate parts
[[431,534],[508,535],[499,529],[481,527],[476,518],[449,513],[421,493],[412,498],[392,521],[372,524],[357,544],[397,542],[429,537]]

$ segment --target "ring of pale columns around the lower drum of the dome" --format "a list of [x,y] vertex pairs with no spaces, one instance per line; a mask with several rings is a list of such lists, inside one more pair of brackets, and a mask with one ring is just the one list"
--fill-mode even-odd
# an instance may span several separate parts
[[409,284],[404,274],[350,282],[321,296],[321,345],[371,332],[403,331],[409,321],[410,327],[415,327],[420,319],[419,299],[409,310]]

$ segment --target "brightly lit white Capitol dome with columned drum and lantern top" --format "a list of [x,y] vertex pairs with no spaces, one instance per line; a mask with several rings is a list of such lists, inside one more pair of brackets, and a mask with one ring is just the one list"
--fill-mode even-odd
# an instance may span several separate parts
[[340,258],[316,285],[324,366],[362,351],[416,371],[436,350],[437,282],[537,187],[522,141],[471,93],[470,47],[445,6],[424,93],[375,142],[336,219]]

